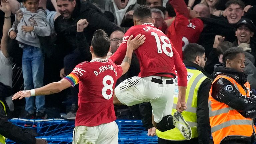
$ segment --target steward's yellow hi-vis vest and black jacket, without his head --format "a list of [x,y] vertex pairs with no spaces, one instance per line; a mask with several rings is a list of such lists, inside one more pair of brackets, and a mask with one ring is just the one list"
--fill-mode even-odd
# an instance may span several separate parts
[[[208,94],[212,84],[210,80],[211,76],[199,65],[187,60],[184,60],[183,62],[188,71],[188,86],[186,90],[187,109],[182,112],[182,116],[192,129],[192,138],[191,140],[186,140],[177,128],[166,132],[157,130],[156,133],[158,138],[163,140],[183,141],[184,144],[209,144],[211,130],[208,116]],[[177,111],[176,104],[179,93],[177,78],[175,82],[176,88],[172,115]]]

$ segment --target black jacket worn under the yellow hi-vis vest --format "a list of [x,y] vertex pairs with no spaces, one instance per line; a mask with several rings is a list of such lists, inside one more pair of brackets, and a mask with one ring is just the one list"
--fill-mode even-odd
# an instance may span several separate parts
[[211,127],[209,119],[208,97],[212,85],[210,80],[211,75],[193,62],[184,60],[183,63],[185,64],[186,68],[195,68],[209,78],[205,79],[198,89],[196,110],[198,144],[209,144],[211,141]]

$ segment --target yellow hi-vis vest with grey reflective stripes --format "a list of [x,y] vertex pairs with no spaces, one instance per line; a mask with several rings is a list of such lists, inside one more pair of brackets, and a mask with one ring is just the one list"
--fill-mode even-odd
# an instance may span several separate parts
[[[197,93],[200,85],[202,82],[207,79],[208,77],[205,76],[201,71],[197,69],[189,69],[188,71],[188,86],[186,90],[186,103],[187,109],[182,112],[183,118],[188,122],[192,130],[192,138],[198,137],[197,133],[197,117],[196,117],[196,108],[197,108]],[[175,79],[175,92],[174,92],[174,101],[172,107],[172,115],[176,112],[176,104],[178,102],[178,83],[177,77]],[[159,138],[166,139],[166,140],[173,140],[173,141],[182,141],[186,140],[180,131],[177,128],[161,132],[156,130],[156,134]]]

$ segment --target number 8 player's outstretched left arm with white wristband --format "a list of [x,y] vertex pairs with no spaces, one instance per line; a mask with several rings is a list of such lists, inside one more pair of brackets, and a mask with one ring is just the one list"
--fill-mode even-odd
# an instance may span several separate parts
[[37,95],[54,94],[54,93],[61,92],[62,90],[69,87],[71,87],[71,83],[66,79],[62,79],[58,82],[49,83],[48,85],[40,88],[19,91],[13,95],[12,100],[15,100],[17,98],[22,99],[23,97],[31,97],[31,96],[37,96]]

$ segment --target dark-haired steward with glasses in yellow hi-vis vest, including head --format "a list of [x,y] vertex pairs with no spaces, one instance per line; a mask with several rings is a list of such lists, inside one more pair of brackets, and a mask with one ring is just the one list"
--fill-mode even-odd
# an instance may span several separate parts
[[[211,129],[209,123],[208,95],[212,85],[211,75],[203,68],[207,58],[205,49],[198,44],[188,44],[184,51],[184,64],[188,71],[186,90],[187,109],[182,112],[183,118],[192,129],[192,138],[186,140],[177,128],[166,132],[156,131],[158,144],[209,144]],[[176,112],[178,100],[177,78],[172,114]]]

